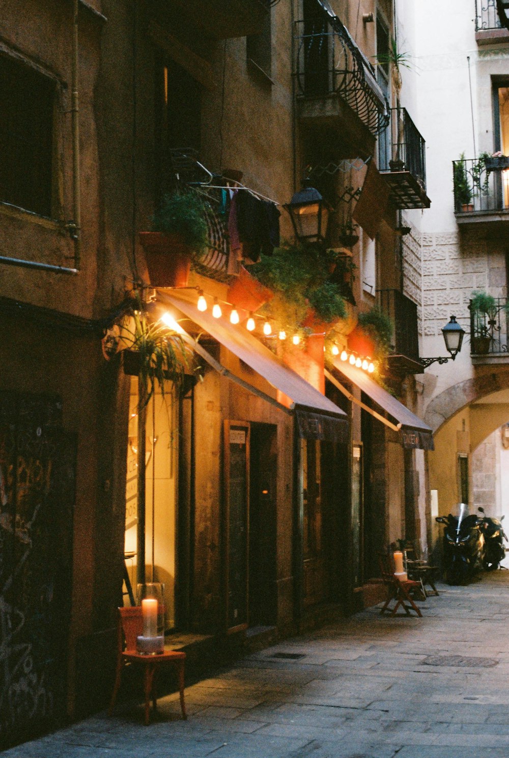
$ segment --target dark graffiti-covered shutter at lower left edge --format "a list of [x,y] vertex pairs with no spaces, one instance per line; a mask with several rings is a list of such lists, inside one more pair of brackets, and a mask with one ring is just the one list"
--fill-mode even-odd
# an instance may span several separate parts
[[[0,393],[0,747],[61,712],[71,597],[74,440],[58,399]],[[28,406],[28,407],[27,407]],[[3,412],[2,412],[3,411]]]

